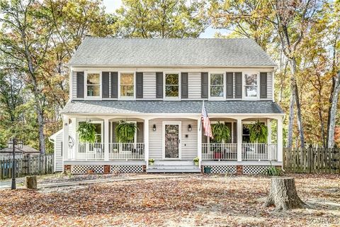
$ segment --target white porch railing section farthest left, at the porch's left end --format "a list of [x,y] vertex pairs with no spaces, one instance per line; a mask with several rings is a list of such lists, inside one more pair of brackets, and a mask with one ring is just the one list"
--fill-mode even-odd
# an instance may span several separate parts
[[104,143],[79,143],[77,160],[104,160]]

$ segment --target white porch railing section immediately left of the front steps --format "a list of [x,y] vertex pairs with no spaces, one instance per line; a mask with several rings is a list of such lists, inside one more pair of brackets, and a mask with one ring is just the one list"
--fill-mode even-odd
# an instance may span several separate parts
[[109,143],[110,160],[144,160],[144,143]]

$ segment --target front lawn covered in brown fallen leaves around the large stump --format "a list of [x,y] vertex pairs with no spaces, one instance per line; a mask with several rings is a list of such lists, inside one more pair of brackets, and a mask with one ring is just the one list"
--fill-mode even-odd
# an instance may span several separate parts
[[339,226],[340,177],[294,177],[313,209],[263,208],[266,177],[199,176],[0,191],[0,226]]

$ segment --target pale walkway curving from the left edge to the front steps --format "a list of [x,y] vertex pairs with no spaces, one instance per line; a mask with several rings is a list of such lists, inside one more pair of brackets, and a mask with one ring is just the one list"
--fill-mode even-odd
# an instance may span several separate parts
[[[69,182],[53,182],[48,184],[39,184],[38,189],[46,189],[53,187],[72,187],[72,186],[82,186],[96,183],[108,183],[108,182],[123,182],[123,181],[135,181],[135,180],[145,180],[145,179],[176,179],[176,178],[186,178],[186,177],[196,177],[200,176],[198,174],[191,175],[134,175],[134,176],[122,176],[122,177],[113,177],[106,179],[86,179],[81,181],[69,181]],[[24,189],[25,187],[22,185],[24,182],[24,178],[16,179],[16,188]],[[0,190],[1,189],[11,189],[11,180],[6,180],[0,182]]]

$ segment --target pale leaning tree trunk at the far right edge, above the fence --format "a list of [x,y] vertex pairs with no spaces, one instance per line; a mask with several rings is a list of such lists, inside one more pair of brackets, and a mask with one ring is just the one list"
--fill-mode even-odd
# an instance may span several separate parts
[[334,129],[335,129],[335,118],[336,118],[336,110],[338,106],[338,99],[339,99],[339,92],[340,92],[340,72],[336,76],[335,86],[334,86],[334,93],[331,99],[331,109],[329,111],[329,125],[328,125],[328,136],[327,136],[327,145],[328,148],[334,147]]

